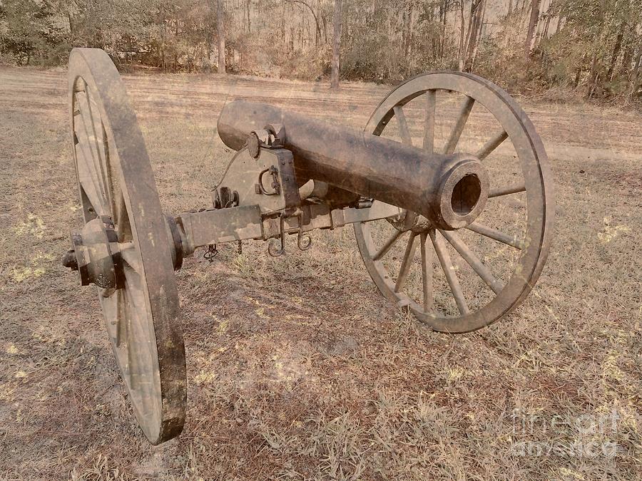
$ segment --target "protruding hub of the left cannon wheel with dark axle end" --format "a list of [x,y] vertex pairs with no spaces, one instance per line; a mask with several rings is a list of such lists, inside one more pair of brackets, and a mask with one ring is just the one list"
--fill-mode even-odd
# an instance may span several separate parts
[[71,233],[71,245],[63,256],[63,266],[78,271],[81,285],[96,284],[103,289],[123,286],[123,268],[118,235],[109,217],[96,217],[80,234]]

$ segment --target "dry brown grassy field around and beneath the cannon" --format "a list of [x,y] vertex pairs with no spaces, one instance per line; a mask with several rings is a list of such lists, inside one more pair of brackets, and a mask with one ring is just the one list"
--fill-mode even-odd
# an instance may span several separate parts
[[[128,76],[161,203],[207,207],[225,100],[362,128],[383,86]],[[148,445],[93,288],[61,267],[81,227],[66,74],[0,69],[0,479],[641,479],[642,117],[518,99],[554,170],[548,264],[475,333],[385,301],[352,229],[272,259],[197,252],[178,272],[183,434]]]

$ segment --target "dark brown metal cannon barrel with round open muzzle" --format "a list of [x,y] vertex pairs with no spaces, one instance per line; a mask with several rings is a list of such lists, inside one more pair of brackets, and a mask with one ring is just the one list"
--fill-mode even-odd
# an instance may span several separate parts
[[468,154],[442,155],[272,105],[234,100],[218,118],[228,147],[243,148],[253,130],[285,128],[299,180],[319,180],[412,210],[442,229],[459,229],[483,210],[488,176]]

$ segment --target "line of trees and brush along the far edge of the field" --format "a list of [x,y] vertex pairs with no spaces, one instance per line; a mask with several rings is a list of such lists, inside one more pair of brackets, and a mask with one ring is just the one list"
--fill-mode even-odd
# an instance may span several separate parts
[[642,97],[642,0],[0,0],[1,62],[63,64],[74,46],[123,70],[320,79],[335,66],[337,84],[454,69]]

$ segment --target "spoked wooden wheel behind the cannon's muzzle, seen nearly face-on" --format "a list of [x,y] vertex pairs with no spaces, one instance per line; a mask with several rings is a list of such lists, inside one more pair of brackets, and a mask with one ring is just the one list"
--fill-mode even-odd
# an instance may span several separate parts
[[[472,115],[477,130],[467,136]],[[518,306],[544,267],[554,219],[548,159],[524,110],[483,78],[427,73],[392,90],[365,130],[428,152],[473,154],[490,182],[483,212],[462,229],[435,229],[409,211],[355,223],[379,291],[433,329],[451,333],[479,329]],[[479,187],[464,182],[453,191],[452,207],[465,214],[475,207],[469,200],[478,198]]]

